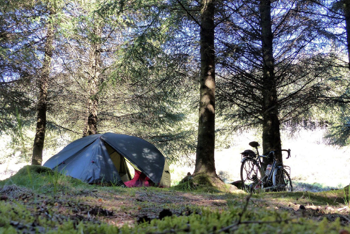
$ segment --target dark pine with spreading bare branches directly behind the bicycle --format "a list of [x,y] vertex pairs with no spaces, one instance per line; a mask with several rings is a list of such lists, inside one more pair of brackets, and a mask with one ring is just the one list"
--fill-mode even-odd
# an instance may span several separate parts
[[[262,127],[263,153],[281,149],[280,125],[324,97],[322,19],[304,1],[235,1],[218,54],[218,106],[235,127]],[[278,155],[282,162],[281,155]]]

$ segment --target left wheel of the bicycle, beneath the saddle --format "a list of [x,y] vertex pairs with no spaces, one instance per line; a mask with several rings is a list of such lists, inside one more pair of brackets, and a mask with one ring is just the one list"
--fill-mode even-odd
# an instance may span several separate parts
[[[253,158],[246,158],[240,168],[242,187],[247,192],[263,189],[261,184],[262,171],[257,161]],[[259,183],[260,182],[260,183]]]

